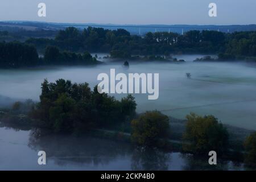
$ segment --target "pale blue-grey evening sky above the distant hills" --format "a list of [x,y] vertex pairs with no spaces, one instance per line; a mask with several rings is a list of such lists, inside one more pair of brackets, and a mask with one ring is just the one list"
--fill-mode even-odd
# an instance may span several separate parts
[[[38,4],[46,3],[46,17]],[[209,3],[217,17],[209,17]],[[112,24],[256,24],[256,0],[1,0],[0,21]]]

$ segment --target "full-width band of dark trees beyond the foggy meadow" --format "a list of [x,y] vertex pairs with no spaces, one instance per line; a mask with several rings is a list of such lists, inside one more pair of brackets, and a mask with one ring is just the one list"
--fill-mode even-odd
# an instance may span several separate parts
[[[8,32],[1,32],[8,35]],[[170,53],[218,53],[219,60],[256,60],[256,31],[226,34],[218,31],[148,32],[143,37],[123,29],[68,27],[54,39],[30,38],[26,42],[1,42],[0,67],[17,68],[46,64],[96,64],[89,52],[108,52],[113,58]],[[43,52],[43,57],[38,56]],[[81,52],[84,52],[82,54]]]

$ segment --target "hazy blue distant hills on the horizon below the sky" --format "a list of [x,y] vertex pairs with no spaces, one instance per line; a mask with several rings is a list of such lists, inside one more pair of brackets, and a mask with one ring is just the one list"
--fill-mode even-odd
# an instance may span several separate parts
[[23,30],[60,30],[65,27],[78,27],[86,28],[92,27],[102,27],[109,30],[115,30],[117,28],[124,28],[125,30],[131,32],[131,34],[144,35],[147,32],[155,31],[171,31],[182,34],[182,32],[189,30],[215,30],[222,32],[234,32],[234,31],[256,31],[256,24],[248,25],[187,25],[187,24],[95,24],[95,23],[49,23],[49,22],[29,22],[29,21],[5,21],[0,22],[0,30],[7,31],[18,31]]

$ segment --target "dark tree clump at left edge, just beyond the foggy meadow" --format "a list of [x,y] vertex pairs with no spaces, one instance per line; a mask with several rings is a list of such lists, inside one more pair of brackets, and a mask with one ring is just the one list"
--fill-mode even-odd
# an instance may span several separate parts
[[89,52],[61,52],[55,46],[47,46],[44,56],[39,57],[35,46],[20,42],[0,43],[0,68],[35,67],[38,65],[74,65],[97,64],[95,57]]

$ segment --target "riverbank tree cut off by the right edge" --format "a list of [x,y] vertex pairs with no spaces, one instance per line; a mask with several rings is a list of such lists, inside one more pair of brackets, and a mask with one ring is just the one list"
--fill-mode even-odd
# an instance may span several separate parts
[[245,139],[245,163],[248,166],[256,166],[256,132]]

